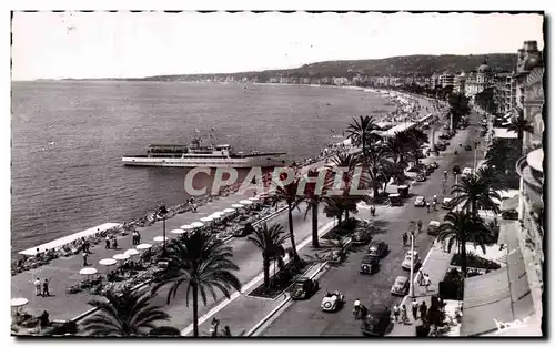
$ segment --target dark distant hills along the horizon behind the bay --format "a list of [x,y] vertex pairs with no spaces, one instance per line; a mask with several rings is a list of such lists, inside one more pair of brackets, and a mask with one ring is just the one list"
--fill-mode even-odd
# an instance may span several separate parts
[[[238,73],[202,73],[154,75],[138,79],[140,81],[195,81],[210,78],[234,76],[256,79],[266,82],[270,78],[332,78],[356,75],[367,76],[430,76],[433,73],[458,73],[474,71],[484,62],[484,55],[405,55],[370,60],[340,60],[305,64],[296,69],[265,70]],[[509,72],[516,67],[516,53],[488,54],[487,64],[494,72]],[[98,80],[98,79],[95,79]],[[236,80],[235,80],[236,81]]]

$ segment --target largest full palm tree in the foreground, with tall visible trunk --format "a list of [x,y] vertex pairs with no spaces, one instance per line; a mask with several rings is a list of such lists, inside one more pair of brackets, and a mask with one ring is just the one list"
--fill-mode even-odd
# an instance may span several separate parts
[[239,269],[233,261],[233,249],[224,246],[213,234],[196,232],[185,237],[182,243],[172,241],[168,246],[168,255],[176,274],[169,275],[158,283],[153,292],[170,285],[168,304],[175,297],[179,287],[186,285],[185,303],[189,306],[189,294],[193,300],[193,334],[199,336],[199,294],[206,305],[206,293],[216,300],[214,289],[230,297],[231,289],[240,290],[241,282],[232,273]]

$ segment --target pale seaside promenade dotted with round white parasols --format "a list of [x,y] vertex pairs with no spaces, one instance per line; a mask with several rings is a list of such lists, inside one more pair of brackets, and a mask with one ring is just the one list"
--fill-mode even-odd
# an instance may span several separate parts
[[[252,195],[251,195],[252,196]],[[210,215],[216,211],[231,207],[231,204],[238,203],[245,198],[243,195],[231,194],[225,197],[213,200],[212,202],[200,206],[196,213],[185,212],[178,214],[165,221],[167,237],[175,237],[170,231],[179,228],[181,225],[190,224],[199,221],[199,218]],[[141,233],[142,243],[155,242],[155,236],[162,235],[162,222],[157,222],[150,226],[138,228]],[[118,237],[118,249],[105,249],[103,243],[91,247],[92,254],[89,256],[88,263],[95,267],[99,273],[105,274],[107,268],[99,265],[102,258],[111,258],[113,255],[123,253],[129,248],[133,248],[131,234]],[[48,310],[51,319],[72,319],[75,316],[90,309],[87,303],[94,296],[88,293],[65,294],[65,288],[79,283],[84,277],[79,275],[79,271],[83,267],[81,254],[70,257],[62,257],[51,261],[48,265],[36,269],[26,271],[11,277],[11,296],[24,297],[29,299],[29,304],[24,307],[32,315],[40,315],[43,310]],[[51,278],[50,297],[41,297],[34,295],[32,285],[36,278]]]

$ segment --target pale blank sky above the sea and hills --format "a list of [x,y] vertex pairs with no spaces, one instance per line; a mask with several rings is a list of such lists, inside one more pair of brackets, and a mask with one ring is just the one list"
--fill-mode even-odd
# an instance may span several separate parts
[[539,14],[16,12],[12,80],[297,68],[327,60],[542,50]]

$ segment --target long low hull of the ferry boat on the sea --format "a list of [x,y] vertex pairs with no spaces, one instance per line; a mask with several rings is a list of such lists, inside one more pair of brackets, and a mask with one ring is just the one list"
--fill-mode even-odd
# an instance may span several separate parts
[[242,159],[160,159],[160,157],[122,157],[127,166],[163,166],[163,167],[275,167],[284,162],[279,157],[242,157]]

